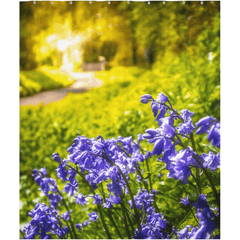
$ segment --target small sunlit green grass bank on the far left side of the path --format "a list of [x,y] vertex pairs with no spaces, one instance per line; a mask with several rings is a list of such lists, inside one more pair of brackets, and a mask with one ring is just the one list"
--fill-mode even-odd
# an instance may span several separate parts
[[39,67],[36,70],[20,71],[20,97],[27,97],[33,94],[68,87],[73,84],[74,79],[60,69],[53,67]]

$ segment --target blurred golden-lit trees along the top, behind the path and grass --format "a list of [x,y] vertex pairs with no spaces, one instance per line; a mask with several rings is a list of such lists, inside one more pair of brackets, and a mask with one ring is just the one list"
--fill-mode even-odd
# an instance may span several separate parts
[[80,38],[75,48],[84,52],[79,53],[78,68],[99,56],[110,66],[151,65],[169,51],[179,54],[198,47],[199,36],[214,28],[219,12],[219,1],[21,2],[20,67],[61,66],[63,51],[57,42],[69,36]]

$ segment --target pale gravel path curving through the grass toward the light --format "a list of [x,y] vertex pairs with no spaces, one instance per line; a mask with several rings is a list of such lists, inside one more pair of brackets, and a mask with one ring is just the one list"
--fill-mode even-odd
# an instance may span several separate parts
[[38,105],[43,103],[46,105],[48,103],[57,102],[67,96],[69,92],[73,93],[83,93],[94,87],[101,87],[103,81],[94,77],[93,72],[84,72],[84,73],[69,73],[75,82],[72,86],[67,88],[60,88],[51,91],[45,91],[37,93],[30,97],[20,98],[20,106],[23,105]]

